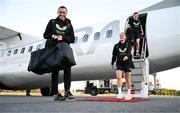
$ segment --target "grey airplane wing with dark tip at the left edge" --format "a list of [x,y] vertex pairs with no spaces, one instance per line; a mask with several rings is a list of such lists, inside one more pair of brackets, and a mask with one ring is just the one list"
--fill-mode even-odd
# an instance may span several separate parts
[[21,34],[20,32],[0,26],[0,40],[11,38],[13,36],[19,36],[21,39],[20,34]]

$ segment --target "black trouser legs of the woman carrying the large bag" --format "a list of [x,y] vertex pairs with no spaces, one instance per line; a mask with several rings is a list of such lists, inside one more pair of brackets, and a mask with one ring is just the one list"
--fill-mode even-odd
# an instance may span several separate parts
[[[51,76],[51,84],[52,84],[52,93],[58,94],[58,79],[59,79],[59,71],[52,72]],[[64,89],[65,91],[69,91],[71,87],[71,67],[64,69]]]

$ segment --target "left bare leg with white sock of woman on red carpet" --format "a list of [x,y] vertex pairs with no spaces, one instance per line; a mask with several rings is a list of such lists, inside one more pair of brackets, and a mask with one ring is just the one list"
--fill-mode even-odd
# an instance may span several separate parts
[[122,90],[122,71],[116,70],[116,78],[117,78],[117,87],[118,87],[118,95],[117,98],[122,98],[121,90]]

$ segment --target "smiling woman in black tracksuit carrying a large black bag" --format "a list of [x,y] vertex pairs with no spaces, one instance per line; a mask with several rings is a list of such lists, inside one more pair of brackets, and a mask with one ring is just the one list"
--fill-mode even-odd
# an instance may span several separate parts
[[[46,47],[55,46],[59,42],[65,42],[67,44],[74,43],[74,30],[70,19],[66,18],[67,8],[65,6],[60,6],[57,11],[58,17],[56,19],[51,19],[47,24],[46,30],[44,32],[44,38],[47,39]],[[56,95],[54,100],[63,101],[66,98],[72,99],[72,94],[70,92],[71,86],[71,67],[64,69],[64,89],[65,94],[62,96],[58,92],[58,78],[59,71],[52,72],[51,84],[52,93]]]

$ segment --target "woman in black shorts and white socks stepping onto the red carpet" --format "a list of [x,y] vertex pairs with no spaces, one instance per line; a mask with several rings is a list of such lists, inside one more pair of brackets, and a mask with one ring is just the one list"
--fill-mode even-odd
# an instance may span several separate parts
[[117,98],[123,98],[121,94],[122,89],[122,71],[125,72],[125,79],[127,82],[128,91],[125,99],[130,100],[131,96],[131,68],[132,68],[132,55],[131,55],[131,45],[126,40],[126,35],[124,32],[120,33],[120,41],[114,46],[112,54],[112,68],[114,69],[114,62],[116,62],[116,77],[117,77],[117,87],[118,95]]

